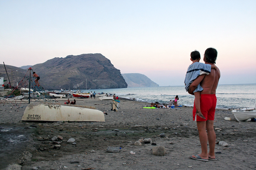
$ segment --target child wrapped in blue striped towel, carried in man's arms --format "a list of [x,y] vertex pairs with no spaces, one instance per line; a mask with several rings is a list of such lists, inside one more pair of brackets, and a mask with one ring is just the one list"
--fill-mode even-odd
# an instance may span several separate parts
[[[199,63],[201,56],[200,53],[195,50],[190,53],[190,60],[192,61],[192,64],[188,67],[187,73],[186,73],[186,78],[185,78],[185,89],[188,91],[190,84],[200,75],[209,75],[211,73],[211,69],[216,70],[216,66],[213,64],[204,64],[204,63]],[[193,91],[195,95],[195,107],[196,107],[196,115],[198,115],[201,118],[205,117],[201,113],[200,109],[200,91],[202,91],[203,88],[200,86],[200,84],[197,86],[197,88]]]

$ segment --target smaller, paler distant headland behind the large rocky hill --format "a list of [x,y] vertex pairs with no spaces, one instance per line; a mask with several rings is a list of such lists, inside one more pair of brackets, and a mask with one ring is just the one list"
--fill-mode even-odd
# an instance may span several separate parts
[[122,74],[127,82],[127,87],[158,87],[159,85],[150,80],[147,76],[139,73]]

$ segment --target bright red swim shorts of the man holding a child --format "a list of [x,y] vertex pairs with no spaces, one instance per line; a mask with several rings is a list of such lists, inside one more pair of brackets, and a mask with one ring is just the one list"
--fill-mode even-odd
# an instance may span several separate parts
[[196,107],[194,102],[193,120],[195,121],[214,120],[216,103],[217,103],[217,98],[215,94],[201,94],[200,109],[205,119],[196,115]]

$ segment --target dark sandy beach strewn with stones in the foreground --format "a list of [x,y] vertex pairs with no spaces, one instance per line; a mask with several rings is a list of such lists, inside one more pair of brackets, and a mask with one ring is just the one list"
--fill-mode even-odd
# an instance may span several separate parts
[[[73,100],[74,98],[70,98]],[[63,100],[57,99],[60,103]],[[117,112],[110,111],[111,100],[77,99],[77,104],[94,106],[107,113],[105,122],[31,122],[21,121],[25,107],[17,102],[0,103],[0,169],[39,170],[167,170],[167,169],[255,169],[256,122],[238,122],[231,110],[217,109],[214,128],[217,161],[189,158],[201,152],[192,107],[145,109],[149,103],[120,99]],[[231,117],[231,121],[224,120]],[[32,128],[34,125],[36,128]],[[218,131],[217,131],[218,130]],[[164,133],[164,137],[160,134]],[[51,138],[60,135],[60,149]],[[76,145],[67,143],[75,139]],[[152,143],[135,146],[139,139],[151,138],[165,147],[164,156],[152,154]],[[120,148],[106,152],[108,146]],[[130,154],[133,151],[135,154]]]

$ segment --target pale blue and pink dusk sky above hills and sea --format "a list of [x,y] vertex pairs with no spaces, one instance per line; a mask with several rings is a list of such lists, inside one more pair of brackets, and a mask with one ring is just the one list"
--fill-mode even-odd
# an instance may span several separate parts
[[219,84],[256,83],[256,0],[0,0],[0,61],[101,53],[121,73],[184,85],[190,53],[218,51]]

